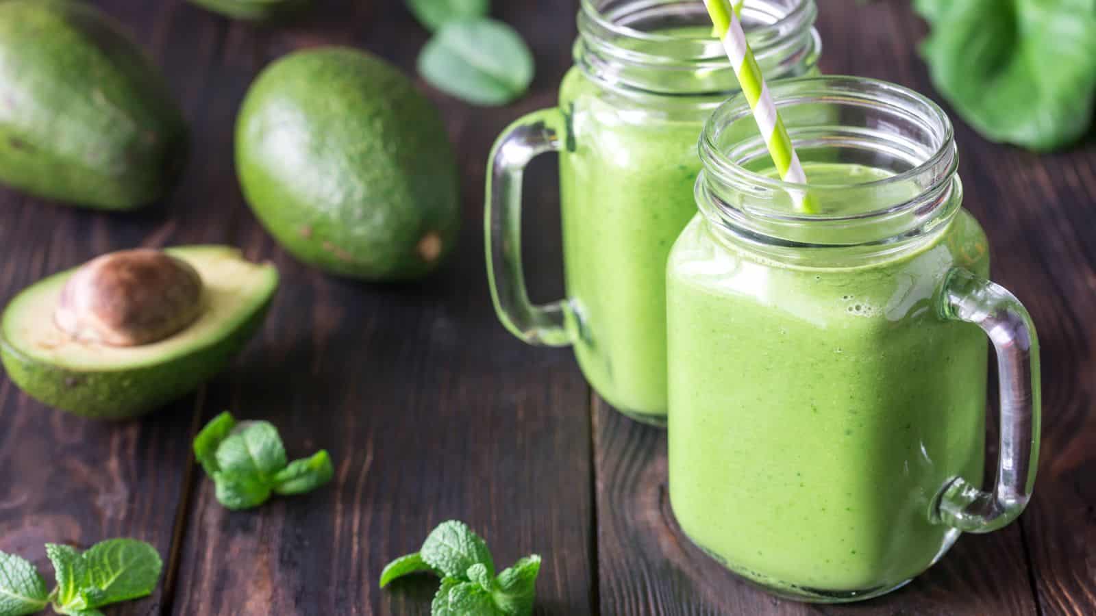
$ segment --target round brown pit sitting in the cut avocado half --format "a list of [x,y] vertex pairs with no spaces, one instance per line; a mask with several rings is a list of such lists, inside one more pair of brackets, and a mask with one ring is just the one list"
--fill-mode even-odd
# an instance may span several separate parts
[[54,322],[72,338],[109,346],[151,344],[202,313],[202,276],[182,259],[123,250],[81,265],[61,289]]

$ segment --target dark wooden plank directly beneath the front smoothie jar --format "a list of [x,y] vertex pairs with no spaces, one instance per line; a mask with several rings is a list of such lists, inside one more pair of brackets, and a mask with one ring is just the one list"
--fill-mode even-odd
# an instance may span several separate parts
[[[823,72],[876,77],[931,92],[914,54],[923,25],[906,4],[826,2],[819,30]],[[980,146],[964,149],[977,152],[966,160],[982,163],[963,167],[967,206],[994,238],[996,254],[1014,252],[1008,240],[1025,240],[997,225],[993,196],[982,191],[985,185],[992,189],[994,182],[982,170],[994,170],[986,161],[998,159],[1002,148],[985,145],[969,129],[960,130],[961,147]],[[998,272],[1016,267],[1005,259],[998,263]],[[1016,276],[1012,282],[1037,275],[1023,269],[1012,271]],[[962,537],[937,566],[905,589],[865,604],[823,607],[774,598],[738,580],[681,534],[666,491],[665,435],[624,419],[601,400],[594,406],[600,598],[605,614],[1036,613],[1019,525]],[[989,454],[995,455],[995,447]]]

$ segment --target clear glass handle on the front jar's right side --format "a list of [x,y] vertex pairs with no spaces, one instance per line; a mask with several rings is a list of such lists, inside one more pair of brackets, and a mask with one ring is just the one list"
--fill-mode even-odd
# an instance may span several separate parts
[[1004,287],[966,270],[944,283],[944,318],[974,323],[997,354],[1001,450],[993,492],[957,477],[941,491],[935,521],[967,533],[996,531],[1024,511],[1039,464],[1039,340],[1027,309]]

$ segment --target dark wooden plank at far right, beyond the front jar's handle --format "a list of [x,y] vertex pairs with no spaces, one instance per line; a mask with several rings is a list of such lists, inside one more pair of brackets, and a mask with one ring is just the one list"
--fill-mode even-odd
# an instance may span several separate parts
[[997,156],[997,274],[1027,305],[1042,345],[1043,436],[1020,518],[1042,615],[1096,614],[1096,150]]

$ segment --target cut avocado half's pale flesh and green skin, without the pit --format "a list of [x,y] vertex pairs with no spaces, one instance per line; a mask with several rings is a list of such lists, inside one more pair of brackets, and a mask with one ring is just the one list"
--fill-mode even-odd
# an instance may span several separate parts
[[121,420],[178,399],[222,370],[262,324],[277,270],[239,250],[164,250],[202,277],[202,310],[182,331],[139,346],[78,340],[55,322],[61,290],[78,269],[23,289],[0,316],[0,361],[32,398],[85,418]]

